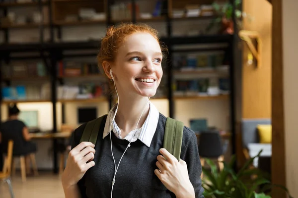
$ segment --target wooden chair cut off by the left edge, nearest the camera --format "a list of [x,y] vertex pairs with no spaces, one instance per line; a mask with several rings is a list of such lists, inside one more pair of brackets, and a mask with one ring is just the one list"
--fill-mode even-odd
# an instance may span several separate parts
[[11,162],[12,162],[12,151],[13,151],[13,141],[8,141],[8,148],[7,148],[7,156],[4,160],[4,166],[2,172],[0,172],[0,179],[7,183],[9,187],[9,192],[11,198],[14,198],[11,180],[10,180],[10,173],[11,173]]

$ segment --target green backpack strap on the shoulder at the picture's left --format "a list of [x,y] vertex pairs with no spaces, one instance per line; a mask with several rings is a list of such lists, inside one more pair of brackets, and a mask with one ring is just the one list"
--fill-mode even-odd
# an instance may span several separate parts
[[81,142],[91,142],[94,145],[96,144],[98,131],[99,131],[101,122],[105,116],[106,115],[103,115],[99,118],[96,118],[94,120],[87,122],[85,129],[83,131],[82,137],[79,141],[80,143]]

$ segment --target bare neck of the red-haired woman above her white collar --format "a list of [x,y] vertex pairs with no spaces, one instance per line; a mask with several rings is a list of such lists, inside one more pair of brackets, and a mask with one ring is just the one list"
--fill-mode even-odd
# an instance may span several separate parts
[[124,138],[129,132],[135,130],[143,110],[144,112],[138,123],[137,129],[144,124],[149,114],[149,102],[147,97],[119,96],[119,98],[119,106],[115,121],[121,129],[121,136]]

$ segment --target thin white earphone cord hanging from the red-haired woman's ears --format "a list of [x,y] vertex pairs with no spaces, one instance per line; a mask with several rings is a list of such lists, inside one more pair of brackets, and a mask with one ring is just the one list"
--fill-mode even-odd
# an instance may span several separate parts
[[[115,110],[114,116],[113,116],[112,121],[111,121],[111,124],[110,124],[110,129],[109,129],[109,132],[112,133],[112,132],[111,132],[111,126],[112,126],[112,124],[113,124],[113,121],[115,120],[115,116],[116,116],[116,113],[117,113],[117,111],[118,111],[118,106],[119,106],[119,95],[118,95],[117,88],[116,88],[116,84],[115,84],[115,81],[114,81],[114,76],[113,76],[113,74],[112,74],[112,69],[110,69],[110,75],[111,75],[111,77],[112,77],[112,79],[113,79],[114,86],[115,86],[115,90],[116,90],[117,97],[118,97],[117,108],[116,108],[116,110]],[[147,106],[147,103],[149,102],[149,99],[150,99],[150,97],[148,98],[148,100],[147,100],[147,102],[146,102],[146,105],[145,105],[145,107],[144,107],[144,109],[143,109],[143,111],[142,111],[142,113],[141,113],[141,116],[140,116],[140,118],[139,118],[139,120],[138,120],[138,122],[137,122],[137,125],[136,125],[136,128],[135,128],[135,133],[134,133],[132,139],[130,140],[129,144],[127,145],[127,148],[126,148],[125,151],[123,152],[123,154],[122,154],[122,156],[121,156],[121,158],[120,158],[120,160],[119,160],[119,163],[118,163],[118,165],[117,165],[117,168],[116,168],[116,162],[115,162],[115,158],[114,158],[114,154],[113,154],[112,134],[110,134],[111,152],[112,152],[112,156],[113,156],[113,160],[114,160],[114,168],[115,168],[115,169],[114,169],[114,178],[113,178],[113,181],[112,181],[111,198],[113,197],[113,188],[114,188],[114,184],[115,184],[115,181],[116,181],[116,173],[117,173],[117,171],[118,171],[119,164],[120,164],[120,162],[121,162],[121,159],[122,159],[124,153],[125,153],[126,150],[131,146],[130,144],[131,144],[133,138],[135,137],[136,130],[137,130],[137,127],[138,127],[138,124],[139,124],[140,119],[141,119],[141,117],[142,117],[142,115],[143,115],[143,113],[144,113],[144,110],[145,110],[145,108],[146,108],[146,106]]]

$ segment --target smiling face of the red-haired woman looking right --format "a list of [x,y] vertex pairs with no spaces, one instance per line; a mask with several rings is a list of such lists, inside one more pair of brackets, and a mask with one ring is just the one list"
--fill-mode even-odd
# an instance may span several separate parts
[[119,48],[111,65],[119,94],[152,97],[162,77],[162,53],[149,33],[134,33]]

